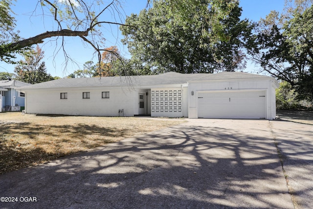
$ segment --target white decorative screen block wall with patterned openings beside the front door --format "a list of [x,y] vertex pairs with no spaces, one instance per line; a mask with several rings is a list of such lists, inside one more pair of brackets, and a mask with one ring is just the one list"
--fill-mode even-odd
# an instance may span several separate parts
[[182,117],[181,89],[152,89],[151,116]]

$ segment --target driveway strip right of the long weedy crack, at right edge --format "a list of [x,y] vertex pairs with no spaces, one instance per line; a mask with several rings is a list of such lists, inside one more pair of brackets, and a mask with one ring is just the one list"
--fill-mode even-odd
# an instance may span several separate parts
[[313,125],[271,121],[296,208],[313,206]]

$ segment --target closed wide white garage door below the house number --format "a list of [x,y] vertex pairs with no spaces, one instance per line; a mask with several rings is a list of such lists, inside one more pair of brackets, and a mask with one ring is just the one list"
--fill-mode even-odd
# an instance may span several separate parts
[[265,91],[198,93],[198,117],[265,118]]

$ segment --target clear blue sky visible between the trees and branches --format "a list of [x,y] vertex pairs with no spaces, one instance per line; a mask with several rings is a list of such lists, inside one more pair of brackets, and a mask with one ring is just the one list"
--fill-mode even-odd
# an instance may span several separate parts
[[[17,29],[20,30],[20,36],[23,38],[29,38],[45,31],[52,31],[56,28],[56,23],[48,18],[43,18],[37,5],[38,0],[17,0],[12,10],[15,12],[17,20]],[[243,9],[242,19],[249,19],[251,21],[259,21],[260,18],[265,18],[271,10],[281,12],[284,8],[285,0],[240,0],[240,6]],[[125,20],[126,16],[132,13],[138,14],[140,10],[144,9],[147,5],[147,0],[123,0],[122,9],[125,13],[121,18],[121,22]],[[36,12],[33,12],[36,9]],[[112,14],[108,13],[108,19],[112,18]],[[120,40],[123,38],[117,26],[103,25],[103,35],[106,39],[106,47],[117,46],[121,52],[121,55],[130,58],[127,46],[121,44]],[[45,51],[45,66],[47,72],[52,76],[65,77],[75,70],[83,69],[83,64],[87,61],[93,60],[96,63],[96,57],[94,57],[94,50],[91,46],[83,43],[78,37],[67,37],[66,51],[71,57],[73,62],[65,64],[65,58],[63,52],[56,54],[55,42],[45,39],[43,44],[39,46]],[[22,57],[18,57],[21,60]],[[6,64],[0,62],[0,72],[14,72],[15,65]],[[256,72],[258,66],[252,63],[247,63],[247,72]]]

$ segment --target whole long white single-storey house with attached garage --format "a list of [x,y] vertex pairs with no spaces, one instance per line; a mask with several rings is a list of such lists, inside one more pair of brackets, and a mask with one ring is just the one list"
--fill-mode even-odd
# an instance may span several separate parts
[[244,72],[68,78],[23,87],[29,114],[189,118],[276,116],[277,81]]

